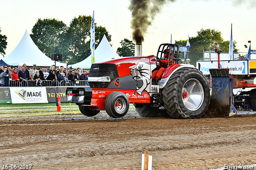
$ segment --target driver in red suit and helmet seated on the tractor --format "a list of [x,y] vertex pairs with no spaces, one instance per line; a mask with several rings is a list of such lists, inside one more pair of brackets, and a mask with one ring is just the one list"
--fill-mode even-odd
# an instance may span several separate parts
[[[156,83],[157,83],[158,80],[161,79],[161,77],[162,77],[164,71],[166,70],[165,67],[168,65],[169,52],[170,52],[169,49],[165,49],[165,50],[163,51],[163,53],[164,53],[164,59],[160,59],[161,65],[159,65],[159,66],[156,67],[157,69],[159,68],[159,70],[155,70],[155,71],[152,73],[152,80],[153,80],[153,82],[156,82]],[[170,58],[172,58],[172,57],[173,57],[173,55],[172,55],[172,52],[171,52]],[[156,62],[158,62],[158,61],[156,61]],[[170,61],[170,64],[172,64],[172,61]],[[155,80],[154,80],[154,79],[155,79]]]

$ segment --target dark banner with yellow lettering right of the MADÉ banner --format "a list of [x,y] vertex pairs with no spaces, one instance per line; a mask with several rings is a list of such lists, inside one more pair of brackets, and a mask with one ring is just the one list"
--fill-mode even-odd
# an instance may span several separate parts
[[[52,89],[51,89],[52,88]],[[46,92],[47,92],[47,100],[49,103],[55,103],[55,95],[54,95],[54,90],[56,93],[60,93],[60,102],[67,102],[66,98],[66,89],[67,87],[46,87]]]

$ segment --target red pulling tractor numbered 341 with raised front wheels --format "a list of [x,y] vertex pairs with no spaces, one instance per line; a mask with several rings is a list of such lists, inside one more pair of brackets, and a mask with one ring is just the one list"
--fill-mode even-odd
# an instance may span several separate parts
[[[179,48],[164,43],[156,57],[122,57],[93,63],[88,78],[90,88],[67,88],[67,102],[76,103],[81,113],[90,117],[106,110],[110,117],[120,118],[133,103],[142,117],[199,118],[210,103],[209,83],[194,65],[178,64]],[[169,62],[155,84],[152,72],[159,69],[165,49],[170,51]]]

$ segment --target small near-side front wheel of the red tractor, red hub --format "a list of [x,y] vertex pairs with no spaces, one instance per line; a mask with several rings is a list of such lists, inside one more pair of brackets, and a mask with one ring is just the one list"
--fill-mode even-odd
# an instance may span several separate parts
[[129,110],[129,99],[124,93],[114,91],[107,96],[105,109],[110,117],[124,117]]

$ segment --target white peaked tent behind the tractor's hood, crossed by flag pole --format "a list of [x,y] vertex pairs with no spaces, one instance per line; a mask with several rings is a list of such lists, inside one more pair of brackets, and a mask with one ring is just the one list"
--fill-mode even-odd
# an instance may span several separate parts
[[[109,44],[106,36],[104,35],[100,44],[98,47],[95,49],[94,52],[94,57],[95,57],[95,62],[99,62],[102,60],[107,60],[107,59],[112,59],[112,58],[118,58],[120,57],[114,49],[111,47]],[[90,68],[92,65],[92,54],[84,59],[83,61],[80,61],[79,63],[68,65],[68,67],[72,68]]]

